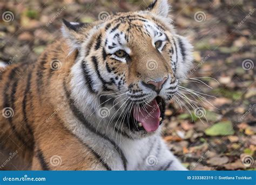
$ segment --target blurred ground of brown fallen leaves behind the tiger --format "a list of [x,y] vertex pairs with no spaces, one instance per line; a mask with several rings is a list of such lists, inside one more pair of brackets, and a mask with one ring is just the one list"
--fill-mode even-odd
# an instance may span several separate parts
[[[150,3],[2,0],[0,61],[35,61],[49,43],[60,37],[62,18],[93,22],[112,12],[144,9]],[[177,32],[194,45],[194,67],[191,78],[181,80],[183,92],[199,104],[189,105],[185,97],[182,108],[170,102],[164,140],[190,170],[255,170],[256,2],[170,3]]]

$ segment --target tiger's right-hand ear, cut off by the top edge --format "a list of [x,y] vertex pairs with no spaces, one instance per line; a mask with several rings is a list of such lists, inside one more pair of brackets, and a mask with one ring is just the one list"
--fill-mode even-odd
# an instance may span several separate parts
[[147,7],[147,10],[156,15],[167,17],[170,8],[171,7],[167,0],[154,0],[154,2]]

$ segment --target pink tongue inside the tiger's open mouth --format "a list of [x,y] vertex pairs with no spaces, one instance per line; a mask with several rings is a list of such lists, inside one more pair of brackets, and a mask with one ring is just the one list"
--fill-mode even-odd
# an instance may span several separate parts
[[133,108],[133,117],[142,123],[142,126],[147,132],[154,132],[159,127],[160,109],[157,100],[153,99],[149,105],[144,107]]

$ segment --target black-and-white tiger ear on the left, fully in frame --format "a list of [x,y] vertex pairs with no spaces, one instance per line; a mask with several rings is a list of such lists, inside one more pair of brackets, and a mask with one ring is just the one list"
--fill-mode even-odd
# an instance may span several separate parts
[[63,19],[62,35],[68,40],[72,49],[78,49],[80,44],[85,41],[92,27],[91,23],[68,22]]

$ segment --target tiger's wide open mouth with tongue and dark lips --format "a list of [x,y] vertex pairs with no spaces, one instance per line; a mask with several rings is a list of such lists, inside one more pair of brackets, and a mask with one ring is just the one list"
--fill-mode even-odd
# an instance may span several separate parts
[[154,132],[161,125],[164,112],[165,102],[161,97],[156,97],[147,104],[133,106],[129,119],[130,128],[137,131]]

